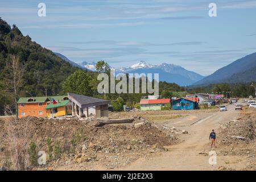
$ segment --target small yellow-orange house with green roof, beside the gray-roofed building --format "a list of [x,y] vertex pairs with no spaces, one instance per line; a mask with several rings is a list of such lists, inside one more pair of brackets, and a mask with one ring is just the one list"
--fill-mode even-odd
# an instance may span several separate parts
[[46,109],[47,118],[72,114],[72,106],[69,100],[59,100],[56,104],[51,102],[51,104],[47,105],[44,109]]

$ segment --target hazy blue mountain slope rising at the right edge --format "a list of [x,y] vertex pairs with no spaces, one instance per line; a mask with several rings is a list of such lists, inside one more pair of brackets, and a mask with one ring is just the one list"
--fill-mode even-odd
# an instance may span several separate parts
[[256,52],[218,69],[193,85],[256,81]]

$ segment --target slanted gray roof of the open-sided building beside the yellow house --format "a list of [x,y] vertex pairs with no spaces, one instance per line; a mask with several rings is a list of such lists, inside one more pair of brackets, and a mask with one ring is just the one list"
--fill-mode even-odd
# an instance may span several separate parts
[[89,96],[82,96],[75,93],[68,93],[69,100],[75,102],[80,107],[90,107],[109,104],[110,101],[101,98],[94,98]]

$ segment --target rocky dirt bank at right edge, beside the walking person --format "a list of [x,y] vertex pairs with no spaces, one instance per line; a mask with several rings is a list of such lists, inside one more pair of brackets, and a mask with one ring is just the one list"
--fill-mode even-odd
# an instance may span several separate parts
[[246,169],[256,170],[256,112],[242,111],[241,118],[221,126],[219,134],[221,155],[246,156]]

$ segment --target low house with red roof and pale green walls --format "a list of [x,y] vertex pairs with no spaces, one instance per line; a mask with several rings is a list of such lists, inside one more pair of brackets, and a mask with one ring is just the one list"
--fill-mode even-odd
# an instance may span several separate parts
[[170,98],[146,99],[141,100],[139,105],[141,105],[141,110],[162,110],[162,106],[168,106],[170,102]]

